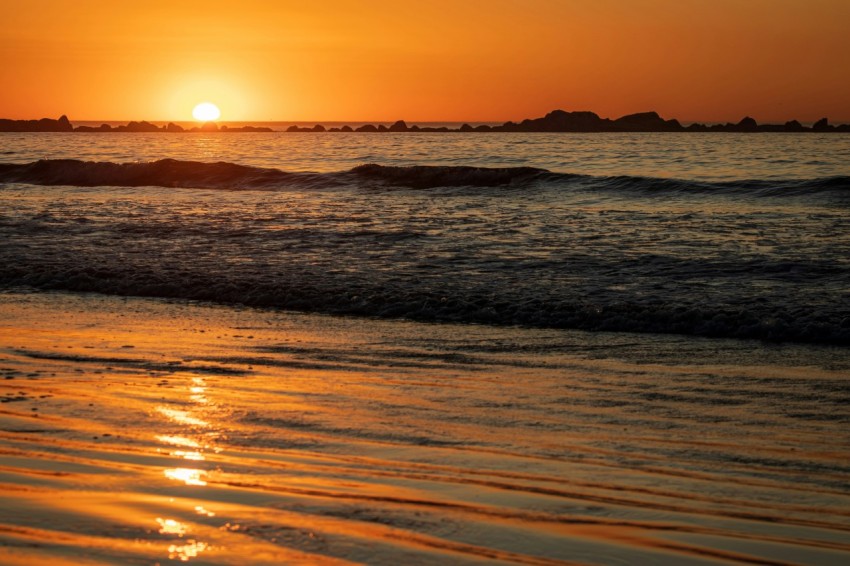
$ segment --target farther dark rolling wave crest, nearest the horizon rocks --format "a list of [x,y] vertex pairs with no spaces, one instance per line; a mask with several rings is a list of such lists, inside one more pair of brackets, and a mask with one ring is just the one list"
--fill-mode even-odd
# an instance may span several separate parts
[[534,167],[385,166],[366,164],[336,173],[287,172],[236,163],[160,159],[140,163],[45,159],[0,164],[0,183],[80,187],[175,187],[199,189],[331,188],[336,186],[400,187],[553,187],[637,195],[710,194],[754,197],[850,195],[850,176],[708,182],[641,176],[592,176],[554,173]]

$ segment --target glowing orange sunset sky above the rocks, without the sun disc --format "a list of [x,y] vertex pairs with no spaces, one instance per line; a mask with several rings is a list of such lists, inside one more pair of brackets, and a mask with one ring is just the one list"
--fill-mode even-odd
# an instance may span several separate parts
[[0,117],[850,122],[850,0],[0,0]]

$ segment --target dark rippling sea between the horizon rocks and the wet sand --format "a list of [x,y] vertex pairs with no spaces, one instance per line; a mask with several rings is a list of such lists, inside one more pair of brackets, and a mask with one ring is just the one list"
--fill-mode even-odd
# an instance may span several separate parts
[[850,343],[850,136],[2,134],[0,159],[7,287]]

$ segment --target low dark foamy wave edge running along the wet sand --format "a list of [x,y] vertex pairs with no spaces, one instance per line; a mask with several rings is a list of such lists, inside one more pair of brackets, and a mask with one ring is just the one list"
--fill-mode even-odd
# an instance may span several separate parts
[[784,308],[770,304],[684,305],[639,298],[582,298],[569,293],[565,296],[512,296],[463,286],[440,292],[434,288],[369,285],[344,278],[323,278],[309,272],[289,273],[282,280],[270,280],[262,273],[228,277],[188,272],[175,279],[159,270],[119,266],[66,265],[61,273],[56,273],[51,268],[17,265],[0,270],[0,287],[198,300],[421,322],[685,334],[850,346],[850,316],[846,310],[837,309],[827,315],[820,309],[807,310],[794,305]]

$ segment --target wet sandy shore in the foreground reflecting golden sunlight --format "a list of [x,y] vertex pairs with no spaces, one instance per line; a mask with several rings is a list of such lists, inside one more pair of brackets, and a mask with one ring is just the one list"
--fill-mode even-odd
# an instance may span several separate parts
[[850,563],[846,350],[0,294],[0,563]]

